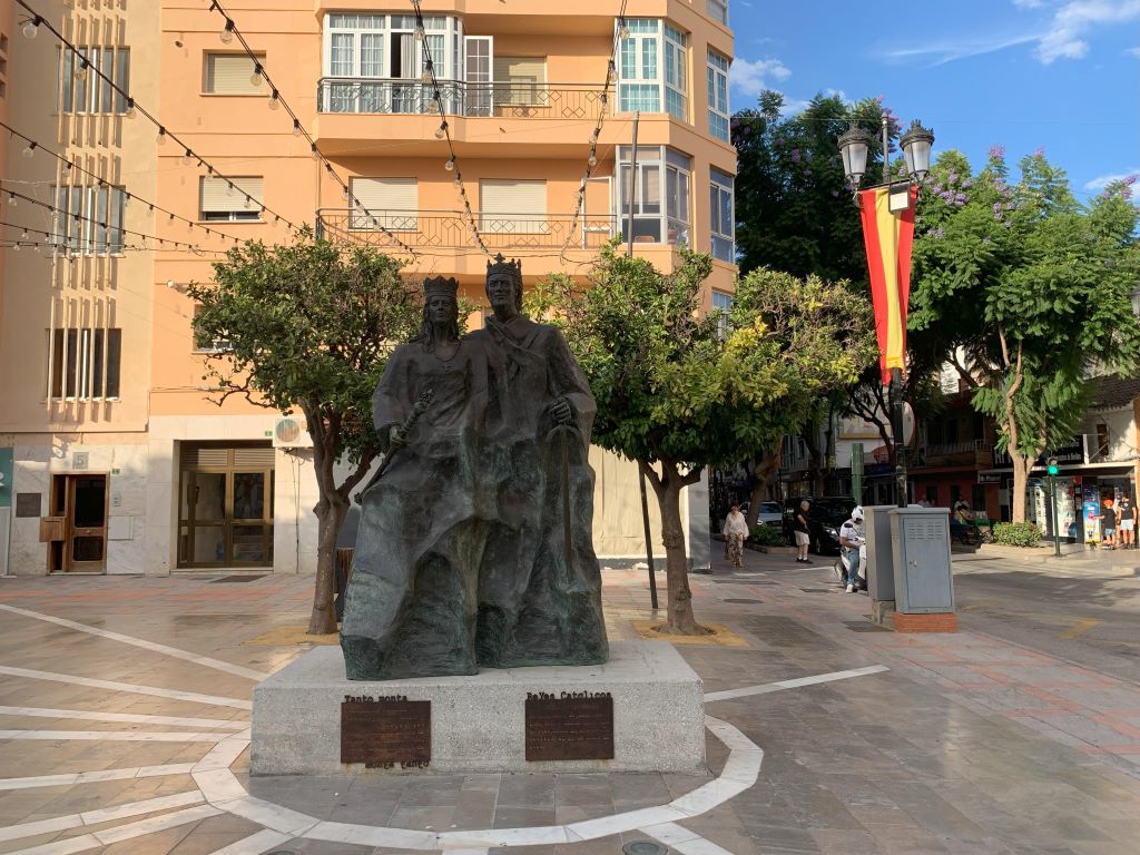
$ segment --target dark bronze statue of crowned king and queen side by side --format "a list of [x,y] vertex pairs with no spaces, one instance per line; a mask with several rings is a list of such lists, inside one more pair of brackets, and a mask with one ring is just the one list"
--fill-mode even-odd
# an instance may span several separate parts
[[341,646],[350,679],[594,665],[608,657],[587,461],[594,398],[519,262],[487,266],[494,317],[459,336],[458,284],[373,397],[385,446],[364,494]]

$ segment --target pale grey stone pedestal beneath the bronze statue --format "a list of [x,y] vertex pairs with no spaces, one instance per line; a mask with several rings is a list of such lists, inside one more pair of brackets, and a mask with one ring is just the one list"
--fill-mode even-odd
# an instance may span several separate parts
[[[612,759],[528,762],[528,697],[585,695],[612,698]],[[253,690],[251,772],[365,771],[364,764],[341,762],[341,705],[348,699],[431,702],[430,760],[420,767],[396,765],[368,772],[706,771],[700,678],[670,644],[614,642],[605,665],[487,669],[471,677],[375,682],[347,679],[340,648],[316,648]]]

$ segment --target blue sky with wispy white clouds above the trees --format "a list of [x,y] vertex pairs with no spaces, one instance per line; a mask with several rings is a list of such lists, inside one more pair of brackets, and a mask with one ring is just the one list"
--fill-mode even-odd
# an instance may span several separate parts
[[1140,0],[731,0],[732,108],[883,96],[978,166],[1044,148],[1078,196],[1140,173]]

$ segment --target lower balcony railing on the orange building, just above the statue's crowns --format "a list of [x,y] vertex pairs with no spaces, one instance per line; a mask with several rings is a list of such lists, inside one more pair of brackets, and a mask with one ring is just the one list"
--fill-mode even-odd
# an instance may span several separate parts
[[[511,214],[474,212],[479,234],[489,250],[561,250],[567,239],[577,249],[596,249],[617,231],[610,214]],[[389,246],[383,228],[413,250],[471,246],[471,229],[457,211],[317,211],[317,235],[329,241]],[[572,229],[572,230],[571,230]]]

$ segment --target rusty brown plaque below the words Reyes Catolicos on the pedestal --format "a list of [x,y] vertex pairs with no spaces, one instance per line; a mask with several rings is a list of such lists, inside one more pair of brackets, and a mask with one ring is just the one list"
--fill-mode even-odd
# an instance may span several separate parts
[[527,693],[528,760],[612,760],[613,695]]

